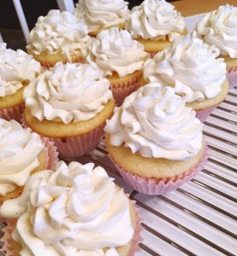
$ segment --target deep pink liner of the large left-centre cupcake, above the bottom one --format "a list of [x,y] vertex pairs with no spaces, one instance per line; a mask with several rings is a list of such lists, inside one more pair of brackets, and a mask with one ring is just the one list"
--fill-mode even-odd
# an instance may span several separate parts
[[104,125],[102,124],[78,137],[50,138],[50,140],[55,143],[63,158],[72,160],[71,158],[88,153],[98,146],[104,132]]

